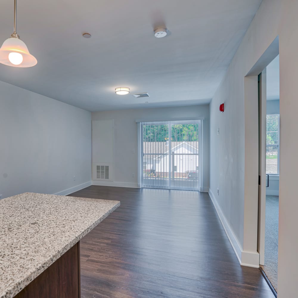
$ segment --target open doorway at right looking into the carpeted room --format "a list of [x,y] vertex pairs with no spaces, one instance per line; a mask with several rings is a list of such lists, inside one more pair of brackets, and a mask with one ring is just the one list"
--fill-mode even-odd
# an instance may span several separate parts
[[[260,267],[276,292],[280,167],[279,79],[279,56],[277,56],[266,67],[266,211],[263,260],[260,255]],[[265,85],[262,84],[263,86]]]

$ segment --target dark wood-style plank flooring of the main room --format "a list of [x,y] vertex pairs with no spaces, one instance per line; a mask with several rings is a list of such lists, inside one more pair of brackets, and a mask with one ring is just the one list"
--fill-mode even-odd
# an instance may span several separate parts
[[207,193],[90,186],[71,195],[121,201],[80,242],[82,298],[274,298],[257,268],[239,265]]

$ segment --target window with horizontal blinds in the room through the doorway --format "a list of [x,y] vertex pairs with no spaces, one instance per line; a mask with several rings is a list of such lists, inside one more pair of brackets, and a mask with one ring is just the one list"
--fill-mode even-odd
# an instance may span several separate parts
[[279,119],[280,115],[266,117],[266,173],[279,174]]

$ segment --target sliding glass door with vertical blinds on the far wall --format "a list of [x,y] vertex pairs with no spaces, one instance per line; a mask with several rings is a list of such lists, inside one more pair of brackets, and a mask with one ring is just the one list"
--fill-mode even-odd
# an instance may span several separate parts
[[199,190],[201,120],[141,122],[142,187]]

